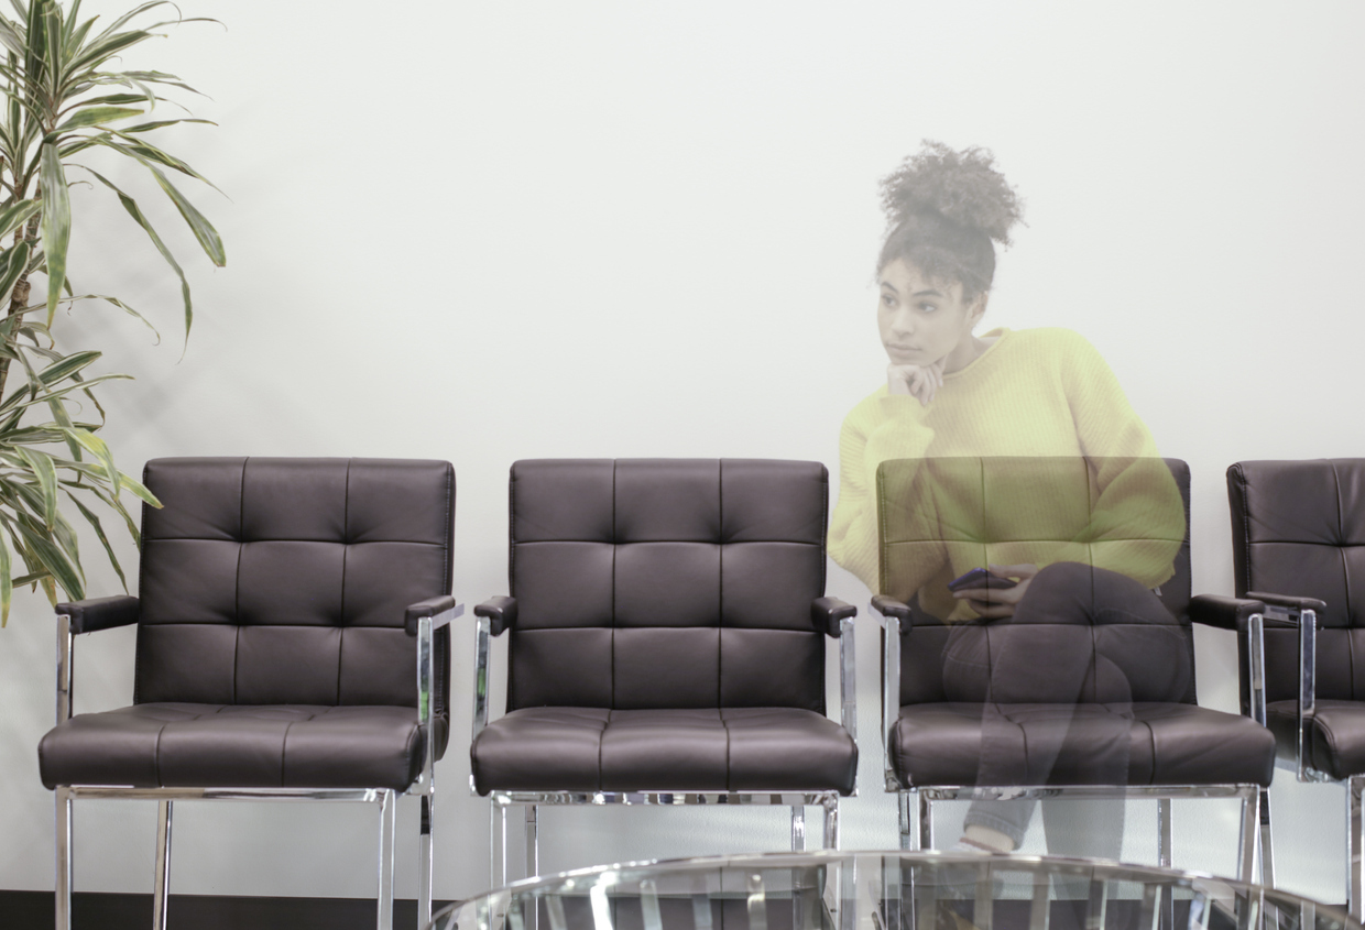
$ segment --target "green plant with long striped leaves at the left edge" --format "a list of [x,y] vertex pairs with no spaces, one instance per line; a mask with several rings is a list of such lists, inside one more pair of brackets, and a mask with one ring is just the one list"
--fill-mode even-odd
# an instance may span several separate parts
[[[167,102],[164,94],[194,89],[171,74],[113,67],[132,46],[164,34],[158,30],[190,20],[161,19],[158,14],[175,11],[167,0],[142,3],[109,23],[82,18],[81,0],[11,5],[14,18],[0,14],[0,624],[16,584],[41,587],[53,604],[57,589],[68,598],[85,597],[82,520],[123,579],[100,516],[117,515],[136,541],[136,523],[124,507],[128,494],[160,505],[119,471],[98,436],[105,422],[98,392],[127,376],[91,374],[101,354],[64,351],[57,339],[57,309],[82,300],[104,300],[146,322],[126,300],[74,288],[67,268],[70,184],[108,190],[146,234],[180,281],[186,337],[194,305],[184,270],[136,199],[87,163],[102,158],[104,167],[113,158],[145,169],[213,264],[225,262],[217,231],[176,186],[187,178],[207,182],[153,142],[168,126],[206,122],[152,119]],[[153,22],[138,25],[143,20]],[[40,300],[30,299],[34,280],[44,284]]]

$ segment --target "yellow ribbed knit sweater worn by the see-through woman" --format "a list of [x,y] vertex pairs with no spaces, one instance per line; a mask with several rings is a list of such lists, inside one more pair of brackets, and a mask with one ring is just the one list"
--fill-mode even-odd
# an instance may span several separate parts
[[[1066,329],[996,329],[975,362],[945,376],[921,406],[886,386],[859,403],[839,436],[839,497],[829,552],[870,589],[908,601],[916,593],[931,613],[975,616],[954,601],[947,582],[975,567],[1081,561],[1155,587],[1171,576],[1185,534],[1179,490],[1156,459],[1151,434],[1095,347]],[[1087,456],[1057,463],[1050,482],[1072,492],[1032,493],[1036,475],[998,482],[983,498],[951,456]],[[883,462],[893,554],[878,556],[876,474]],[[1077,463],[1073,463],[1073,466]],[[1035,470],[1036,471],[1036,470]],[[1061,494],[1061,497],[1058,496]],[[1058,500],[1070,504],[1058,504]],[[1081,519],[1077,520],[1076,500]],[[901,505],[904,501],[904,507]]]

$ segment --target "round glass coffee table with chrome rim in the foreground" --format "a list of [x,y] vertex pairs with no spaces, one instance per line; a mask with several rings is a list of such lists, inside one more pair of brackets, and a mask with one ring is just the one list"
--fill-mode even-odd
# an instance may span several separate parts
[[597,866],[438,912],[430,930],[1365,930],[1228,878],[1051,856],[793,852]]

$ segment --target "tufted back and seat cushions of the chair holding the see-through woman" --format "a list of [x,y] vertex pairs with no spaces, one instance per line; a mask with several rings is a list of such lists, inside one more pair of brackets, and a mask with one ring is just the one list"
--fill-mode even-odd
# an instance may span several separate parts
[[[883,590],[913,610],[912,621],[902,624],[901,707],[887,752],[902,785],[1001,784],[1002,778],[1013,785],[1269,784],[1271,733],[1246,717],[1198,707],[1193,672],[1170,675],[1173,668],[1193,669],[1183,462],[886,462],[879,507]],[[935,578],[925,579],[921,571],[905,580],[902,572],[917,563],[940,559],[949,567]],[[1076,576],[1081,587],[1088,567],[1137,578],[1159,589],[1171,623],[1132,623],[1121,605],[1112,605],[1085,625],[1044,619],[1028,627],[980,620],[958,627],[939,619],[943,605],[934,613],[923,594],[916,598],[921,586],[946,590],[968,568],[1018,563],[1061,563],[1050,571]],[[934,606],[932,595],[928,600]],[[943,661],[954,628],[983,640],[991,668],[1010,636],[1047,638],[1055,651],[1073,657],[1078,649],[1089,650],[1084,683],[1066,703],[1047,703],[1058,698],[1041,694],[1013,703],[951,701]],[[1046,687],[1043,672],[1037,681]],[[1005,684],[1010,686],[1005,691],[1021,690],[1021,683]],[[1097,747],[1106,747],[1106,765],[1095,762]],[[983,765],[986,757],[991,765]],[[1112,770],[1115,761],[1126,773]]]

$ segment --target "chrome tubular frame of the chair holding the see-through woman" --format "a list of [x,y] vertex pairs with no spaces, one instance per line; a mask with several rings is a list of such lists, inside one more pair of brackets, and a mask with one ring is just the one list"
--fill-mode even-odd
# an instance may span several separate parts
[[[875,608],[874,608],[875,609]],[[897,795],[897,821],[901,848],[912,849],[910,806],[912,796],[919,798],[919,845],[920,849],[934,848],[932,803],[936,800],[1013,800],[1013,799],[1129,799],[1152,798],[1158,802],[1158,858],[1162,866],[1171,862],[1171,799],[1177,798],[1239,798],[1242,800],[1241,836],[1238,841],[1238,870],[1242,881],[1252,881],[1256,864],[1256,849],[1261,851],[1261,877],[1274,881],[1274,859],[1269,843],[1269,799],[1260,785],[1024,785],[1024,787],[977,787],[977,785],[902,785],[891,765],[895,722],[901,710],[901,621],[894,616],[882,617],[882,750],[883,777],[886,791]],[[1261,615],[1253,615],[1248,627],[1249,649],[1248,675],[1250,692],[1249,706],[1257,722],[1265,721],[1264,668],[1265,650],[1261,632]],[[1365,785],[1365,777],[1362,777]],[[1357,799],[1360,796],[1357,795]],[[1357,822],[1358,821],[1353,821]]]

